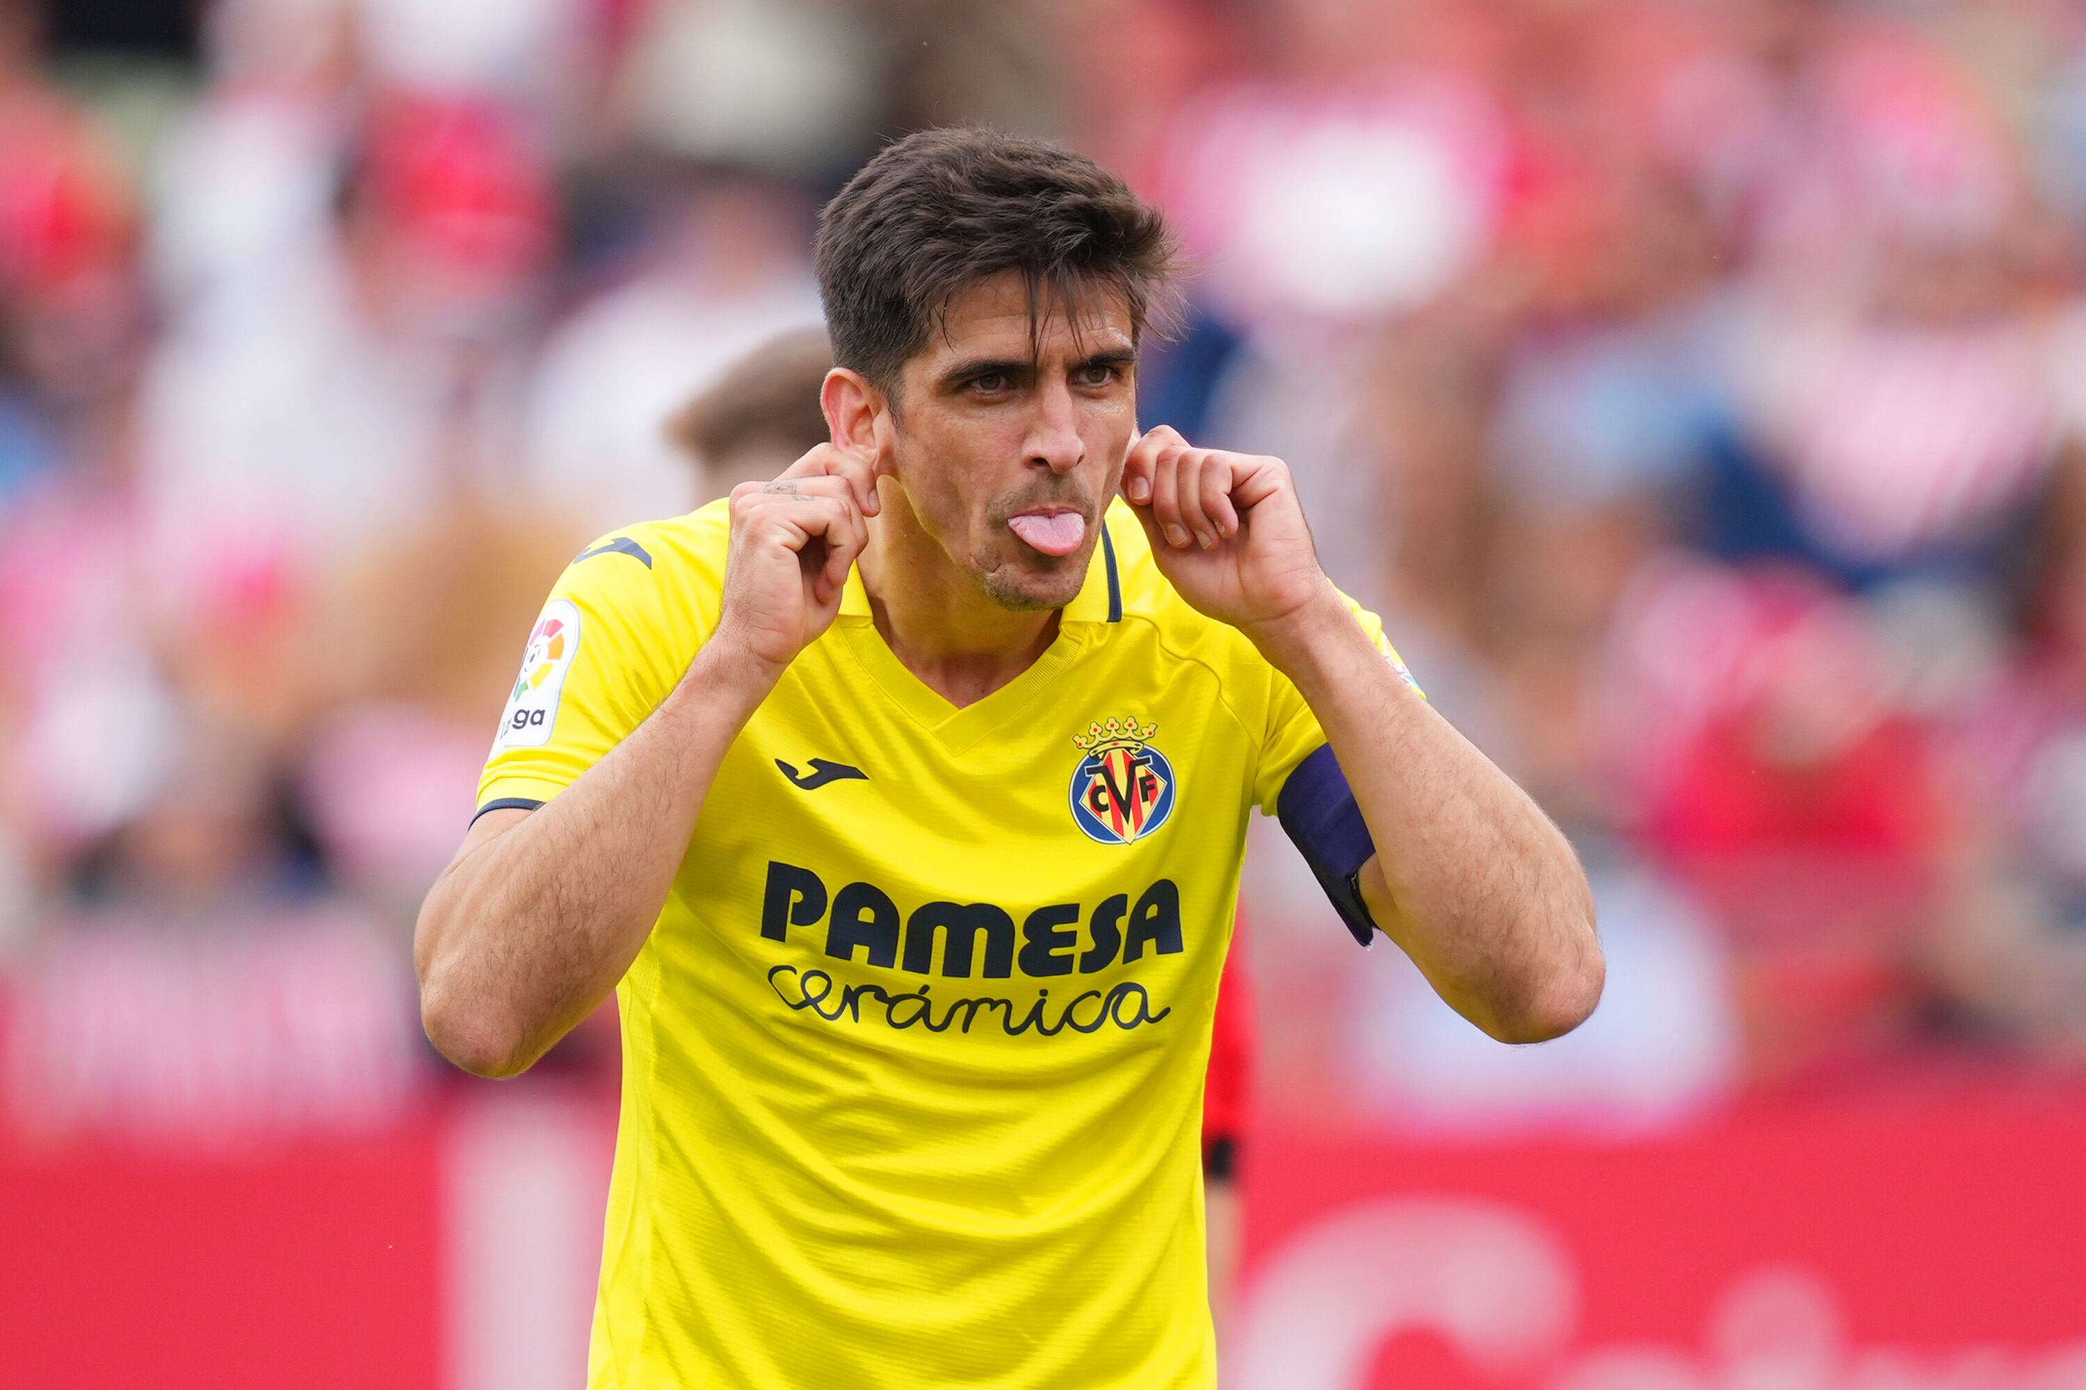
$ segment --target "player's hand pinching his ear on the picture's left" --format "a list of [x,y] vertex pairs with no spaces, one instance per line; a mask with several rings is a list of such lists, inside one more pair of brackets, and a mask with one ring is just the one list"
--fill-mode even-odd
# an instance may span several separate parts
[[768,483],[732,488],[724,565],[724,644],[780,675],[841,611],[847,571],[870,540],[880,504],[868,463],[820,444]]

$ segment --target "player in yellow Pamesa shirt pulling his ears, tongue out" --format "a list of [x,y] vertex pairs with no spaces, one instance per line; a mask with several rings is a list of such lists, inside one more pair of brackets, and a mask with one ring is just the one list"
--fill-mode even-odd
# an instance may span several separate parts
[[1214,1386],[1247,813],[1502,1040],[1592,1011],[1585,877],[1281,461],[1135,438],[1172,250],[1120,179],[924,131],[816,258],[832,442],[557,581],[421,907],[428,1036],[513,1075],[615,990],[597,1388]]

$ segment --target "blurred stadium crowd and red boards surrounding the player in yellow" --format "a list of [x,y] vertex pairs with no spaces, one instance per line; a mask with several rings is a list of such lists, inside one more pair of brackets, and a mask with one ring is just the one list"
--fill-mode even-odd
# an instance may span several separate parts
[[578,1386],[613,1019],[407,940],[534,609],[882,135],[1202,273],[1147,421],[1558,817],[1485,1042],[1279,834],[1247,1390],[2086,1386],[2086,10],[0,2],[0,1384]]

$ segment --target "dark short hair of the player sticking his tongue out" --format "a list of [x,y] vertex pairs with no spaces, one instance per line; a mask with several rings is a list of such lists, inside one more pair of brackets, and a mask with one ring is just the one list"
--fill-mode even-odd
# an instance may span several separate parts
[[968,286],[1018,271],[1041,329],[1049,300],[1110,288],[1131,331],[1168,327],[1179,250],[1158,208],[1043,140],[926,129],[887,146],[818,219],[818,290],[841,367],[884,388]]

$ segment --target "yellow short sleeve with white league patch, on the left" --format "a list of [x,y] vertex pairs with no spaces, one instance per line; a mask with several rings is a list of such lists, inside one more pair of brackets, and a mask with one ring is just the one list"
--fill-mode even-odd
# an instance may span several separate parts
[[478,813],[540,806],[636,729],[674,690],[703,631],[661,594],[628,533],[580,552],[530,629],[478,779]]

